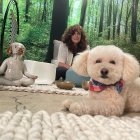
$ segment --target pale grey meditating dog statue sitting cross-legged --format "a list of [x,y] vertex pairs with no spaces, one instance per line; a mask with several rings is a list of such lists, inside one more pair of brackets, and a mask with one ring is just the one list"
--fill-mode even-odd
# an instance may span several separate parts
[[29,86],[35,82],[37,76],[27,72],[22,60],[25,47],[21,43],[12,43],[7,50],[11,57],[5,59],[0,66],[0,85]]

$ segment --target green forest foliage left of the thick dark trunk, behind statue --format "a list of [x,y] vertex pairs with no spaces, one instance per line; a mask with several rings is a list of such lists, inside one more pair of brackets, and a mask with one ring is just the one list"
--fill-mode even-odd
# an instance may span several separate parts
[[[6,11],[7,5],[9,0],[3,1],[3,9],[4,12]],[[25,8],[26,8],[26,1],[18,0],[18,7],[19,7],[19,35],[16,36],[16,41],[21,42],[26,47],[26,59],[43,61],[46,56],[47,46],[49,43],[50,37],[50,27],[51,27],[51,16],[52,16],[52,7],[53,2],[52,0],[47,0],[47,16],[46,22],[42,21],[42,14],[44,8],[44,0],[34,0],[30,1],[29,5],[29,13],[28,13],[28,21],[25,21]],[[10,9],[14,11],[15,17],[16,15],[16,8],[14,3],[11,4]],[[3,13],[4,13],[3,12]],[[4,15],[0,15],[1,17]],[[3,17],[2,17],[3,18]],[[0,20],[2,21],[2,20]],[[1,24],[2,22],[0,22]],[[9,47],[10,41],[10,10],[7,17],[6,28],[5,28],[5,36],[4,36],[4,50],[3,55],[4,59],[7,56],[6,50]]]

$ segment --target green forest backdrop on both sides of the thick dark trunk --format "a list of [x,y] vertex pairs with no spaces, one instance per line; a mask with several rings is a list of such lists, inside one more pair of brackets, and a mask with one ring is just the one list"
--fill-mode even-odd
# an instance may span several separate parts
[[[25,59],[44,61],[46,58],[53,21],[53,5],[56,1],[59,0],[17,0],[20,22],[16,41],[26,46]],[[61,1],[69,5],[68,18],[64,19],[67,26],[83,26],[91,48],[99,44],[115,44],[140,60],[139,0]],[[9,0],[0,0],[0,31],[8,2]],[[59,10],[65,8],[59,6]],[[15,13],[14,4],[10,9]],[[10,22],[9,12],[4,36],[5,57],[10,38]]]

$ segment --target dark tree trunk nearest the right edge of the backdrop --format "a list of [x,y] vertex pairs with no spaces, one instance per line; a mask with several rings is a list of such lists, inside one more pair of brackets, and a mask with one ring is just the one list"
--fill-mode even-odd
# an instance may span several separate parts
[[132,2],[132,23],[131,23],[131,41],[133,43],[137,42],[137,10],[138,10],[138,1],[139,0],[133,0]]

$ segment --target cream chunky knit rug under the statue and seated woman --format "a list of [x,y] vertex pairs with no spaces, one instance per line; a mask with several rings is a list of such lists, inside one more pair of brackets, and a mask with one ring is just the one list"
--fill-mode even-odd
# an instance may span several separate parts
[[48,94],[69,94],[69,95],[87,95],[88,91],[82,88],[73,88],[72,90],[64,90],[58,88],[55,84],[51,85],[31,85],[28,87],[15,87],[15,86],[3,86],[0,85],[0,90],[10,91],[25,91],[25,92],[38,92]]

